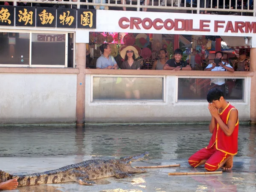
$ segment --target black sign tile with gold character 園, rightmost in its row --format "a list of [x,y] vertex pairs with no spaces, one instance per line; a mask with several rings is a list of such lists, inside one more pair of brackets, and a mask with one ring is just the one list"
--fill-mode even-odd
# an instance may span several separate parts
[[96,29],[96,9],[78,9],[77,28]]

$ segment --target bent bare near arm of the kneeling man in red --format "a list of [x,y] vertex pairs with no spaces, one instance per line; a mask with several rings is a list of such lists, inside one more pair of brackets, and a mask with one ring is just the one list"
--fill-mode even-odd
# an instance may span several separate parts
[[218,116],[216,117],[216,121],[218,122],[221,130],[227,135],[227,136],[230,136],[234,129],[235,129],[235,126],[236,126],[236,122],[237,122],[237,119],[238,119],[238,112],[236,109],[232,109],[230,111],[230,116],[229,116],[229,119],[228,119],[228,122],[227,122],[227,125],[225,124],[225,122],[223,122],[221,120],[221,117]]

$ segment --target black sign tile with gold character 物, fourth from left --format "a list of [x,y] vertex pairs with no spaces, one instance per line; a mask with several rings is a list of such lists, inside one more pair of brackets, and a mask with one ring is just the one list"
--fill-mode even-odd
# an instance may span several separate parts
[[57,9],[57,27],[76,28],[76,9]]

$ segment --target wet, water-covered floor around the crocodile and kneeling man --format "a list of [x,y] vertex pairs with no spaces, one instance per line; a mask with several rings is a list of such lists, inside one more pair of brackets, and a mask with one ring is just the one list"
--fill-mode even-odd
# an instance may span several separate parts
[[118,179],[95,180],[93,186],[60,183],[18,187],[14,192],[254,192],[256,191],[256,126],[240,125],[239,152],[232,171],[217,175],[176,175],[204,172],[187,159],[207,146],[208,125],[143,125],[67,127],[0,127],[0,169],[27,174],[58,169],[89,159],[114,159],[148,151],[133,166],[176,164],[180,167],[147,169]]

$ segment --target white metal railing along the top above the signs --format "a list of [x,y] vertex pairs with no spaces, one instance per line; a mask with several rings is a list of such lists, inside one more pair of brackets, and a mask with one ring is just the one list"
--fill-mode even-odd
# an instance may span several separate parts
[[[147,3],[148,1],[149,3]],[[184,1],[186,3],[184,3]],[[77,9],[80,9],[80,6],[83,6],[85,9],[88,9],[89,6],[104,6],[111,8],[137,8],[137,11],[147,8],[155,12],[157,12],[157,9],[169,9],[187,10],[197,14],[206,11],[223,13],[235,12],[240,15],[250,13],[250,15],[256,16],[256,0],[229,0],[229,3],[224,4],[224,6],[221,4],[227,2],[226,0],[123,0],[122,3],[121,0],[0,0],[0,2],[12,2],[14,6],[19,6],[20,3],[34,3],[33,6],[36,6],[35,4],[37,3],[48,3],[72,5],[73,8]]]

